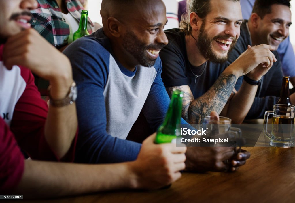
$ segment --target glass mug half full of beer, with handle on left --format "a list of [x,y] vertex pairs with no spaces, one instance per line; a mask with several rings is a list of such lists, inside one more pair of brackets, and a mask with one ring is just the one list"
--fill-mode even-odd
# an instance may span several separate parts
[[[273,111],[264,114],[263,132],[270,139],[269,144],[274,147],[294,146],[294,111],[295,106],[287,104],[273,105]],[[271,134],[267,130],[268,116],[272,114]]]

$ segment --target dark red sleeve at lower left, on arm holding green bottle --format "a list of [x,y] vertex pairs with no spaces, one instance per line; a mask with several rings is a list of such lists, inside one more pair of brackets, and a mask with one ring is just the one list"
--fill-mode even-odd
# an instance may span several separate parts
[[11,191],[22,178],[24,156],[9,127],[0,117],[0,191]]

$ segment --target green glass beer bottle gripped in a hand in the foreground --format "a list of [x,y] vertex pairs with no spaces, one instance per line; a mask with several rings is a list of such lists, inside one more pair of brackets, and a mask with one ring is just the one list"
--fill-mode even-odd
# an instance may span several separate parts
[[171,102],[163,124],[159,127],[155,139],[155,143],[167,143],[180,136],[180,129],[177,126],[180,124],[182,113],[182,98],[183,92],[178,89],[173,89]]

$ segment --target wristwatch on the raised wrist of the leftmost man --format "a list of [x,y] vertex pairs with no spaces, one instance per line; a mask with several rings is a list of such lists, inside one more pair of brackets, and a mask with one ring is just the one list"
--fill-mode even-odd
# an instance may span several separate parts
[[63,107],[69,104],[73,104],[76,99],[77,99],[77,87],[76,87],[76,82],[73,81],[70,90],[68,92],[68,94],[65,96],[65,98],[60,99],[60,100],[55,100],[53,98],[51,98],[50,94],[49,94],[49,103],[50,105],[54,106],[54,107]]

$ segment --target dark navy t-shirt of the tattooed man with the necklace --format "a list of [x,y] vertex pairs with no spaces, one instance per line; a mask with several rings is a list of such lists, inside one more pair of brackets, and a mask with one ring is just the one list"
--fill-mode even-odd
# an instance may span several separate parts
[[187,58],[185,34],[177,28],[165,30],[165,33],[169,43],[160,51],[165,87],[189,85],[194,98],[199,98],[212,87],[227,64],[208,61],[199,67],[192,66]]

